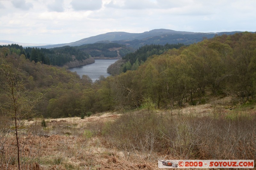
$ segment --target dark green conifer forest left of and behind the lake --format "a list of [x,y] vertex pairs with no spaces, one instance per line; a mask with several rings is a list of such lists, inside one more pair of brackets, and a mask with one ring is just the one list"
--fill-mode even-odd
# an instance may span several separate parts
[[[132,49],[116,43],[95,43],[77,47],[64,46],[50,49],[36,47],[23,48],[18,44],[11,44],[0,46],[0,48],[8,48],[11,53],[16,53],[17,55],[23,54],[26,59],[35,63],[40,62],[55,66],[64,66],[68,65],[67,63],[69,62],[75,61],[82,62],[90,57],[123,57],[132,52]],[[3,53],[3,55],[7,55],[6,50],[3,50]]]

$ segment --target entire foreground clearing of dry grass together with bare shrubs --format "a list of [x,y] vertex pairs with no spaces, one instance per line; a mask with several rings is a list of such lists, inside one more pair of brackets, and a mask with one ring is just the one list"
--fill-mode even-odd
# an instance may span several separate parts
[[[151,170],[158,169],[158,159],[255,159],[256,110],[228,108],[217,103],[47,119],[47,128],[34,119],[19,131],[22,166]],[[8,126],[1,130],[0,169],[17,169],[15,136]]]

